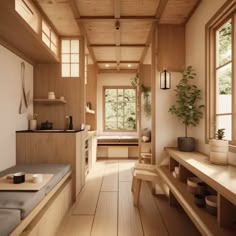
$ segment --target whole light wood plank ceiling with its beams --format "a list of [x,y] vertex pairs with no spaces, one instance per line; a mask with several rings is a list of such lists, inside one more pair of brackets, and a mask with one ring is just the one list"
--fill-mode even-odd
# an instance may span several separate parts
[[200,0],[34,0],[61,36],[84,35],[100,69],[137,69],[157,24],[185,24]]

